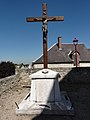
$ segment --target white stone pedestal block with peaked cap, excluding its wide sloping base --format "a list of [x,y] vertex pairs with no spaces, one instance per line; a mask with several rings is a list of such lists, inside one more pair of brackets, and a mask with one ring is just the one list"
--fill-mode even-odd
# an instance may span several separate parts
[[59,102],[59,74],[51,70],[41,70],[31,75],[31,102]]

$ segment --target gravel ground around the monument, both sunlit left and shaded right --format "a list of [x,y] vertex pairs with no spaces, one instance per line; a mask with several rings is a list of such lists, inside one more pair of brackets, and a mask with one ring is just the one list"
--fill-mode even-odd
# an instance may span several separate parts
[[90,120],[90,84],[64,84],[62,89],[72,101],[74,116],[17,116],[15,102],[19,104],[29,91],[29,88],[17,85],[0,95],[0,120]]

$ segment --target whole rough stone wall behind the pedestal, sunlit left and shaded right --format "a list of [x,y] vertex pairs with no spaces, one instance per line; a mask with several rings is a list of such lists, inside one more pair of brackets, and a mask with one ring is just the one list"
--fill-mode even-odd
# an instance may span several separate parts
[[[29,75],[40,69],[17,69],[16,75],[0,79],[0,94],[14,86],[30,86]],[[66,84],[90,84],[90,67],[78,68],[52,68],[59,72],[60,83]]]

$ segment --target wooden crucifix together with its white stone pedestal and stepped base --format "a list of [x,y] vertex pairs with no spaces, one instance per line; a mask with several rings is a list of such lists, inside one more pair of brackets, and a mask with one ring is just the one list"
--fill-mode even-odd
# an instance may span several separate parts
[[17,105],[16,114],[72,115],[69,97],[61,92],[60,75],[47,69],[47,22],[63,21],[64,17],[47,17],[46,3],[43,3],[43,17],[27,18],[27,22],[42,22],[44,69],[30,75],[31,89],[23,101]]

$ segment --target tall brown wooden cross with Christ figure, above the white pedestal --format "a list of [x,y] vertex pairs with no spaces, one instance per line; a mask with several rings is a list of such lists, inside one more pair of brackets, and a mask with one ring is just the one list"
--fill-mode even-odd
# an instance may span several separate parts
[[64,16],[47,16],[47,5],[46,3],[42,4],[42,17],[28,17],[26,18],[27,22],[42,22],[42,31],[43,31],[43,61],[44,68],[48,67],[48,56],[47,56],[47,33],[48,33],[48,21],[64,21]]

